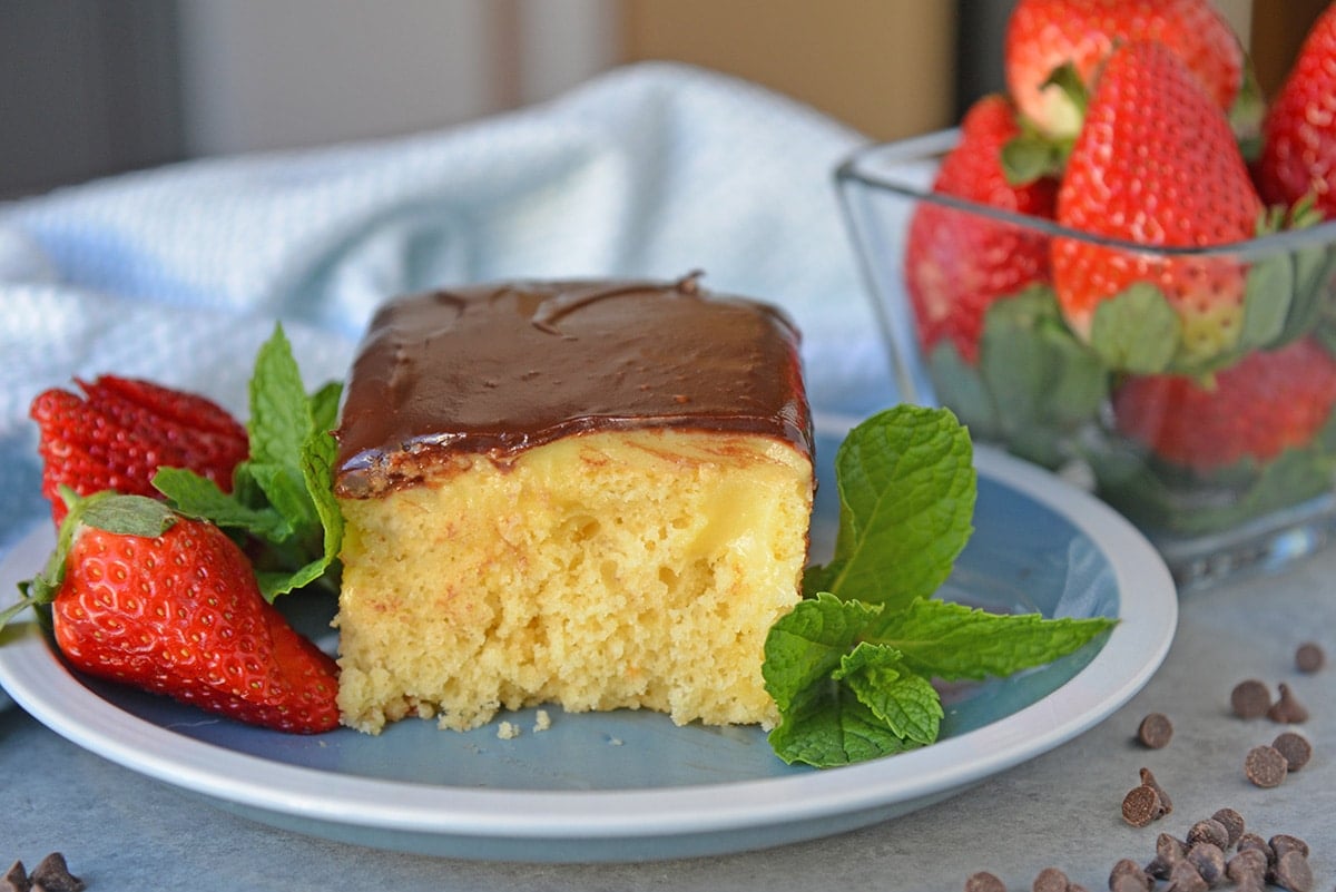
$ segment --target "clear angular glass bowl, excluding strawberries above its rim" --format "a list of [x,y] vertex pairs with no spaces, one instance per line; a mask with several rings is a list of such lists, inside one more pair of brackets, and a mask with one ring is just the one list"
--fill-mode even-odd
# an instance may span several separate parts
[[[1216,248],[1101,239],[931,192],[958,138],[867,146],[836,170],[899,390],[888,397],[947,406],[975,441],[1093,489],[1150,538],[1180,589],[1327,545],[1336,222]],[[914,231],[919,218],[934,236]],[[1014,282],[978,272],[981,258],[1035,246],[1045,258],[1100,251],[1146,280],[1092,311],[1059,299],[1047,268]],[[1014,290],[962,296],[977,272]],[[1210,312],[1180,310],[1202,290]]]

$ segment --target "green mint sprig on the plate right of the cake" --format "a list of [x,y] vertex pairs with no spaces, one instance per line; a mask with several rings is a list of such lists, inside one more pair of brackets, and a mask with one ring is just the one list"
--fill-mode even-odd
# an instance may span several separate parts
[[771,626],[762,668],[775,753],[818,768],[925,746],[945,716],[933,678],[1009,676],[1069,654],[1114,620],[1002,616],[931,596],[973,533],[969,433],[949,410],[898,406],[835,459],[835,557]]

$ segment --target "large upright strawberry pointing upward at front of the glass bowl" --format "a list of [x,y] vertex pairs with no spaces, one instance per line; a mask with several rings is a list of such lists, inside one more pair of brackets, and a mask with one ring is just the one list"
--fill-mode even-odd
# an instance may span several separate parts
[[[1058,222],[1153,247],[1249,239],[1261,200],[1225,115],[1161,44],[1126,44],[1105,64],[1058,190]],[[1224,255],[1166,256],[1053,239],[1063,316],[1089,337],[1096,306],[1134,282],[1160,287],[1190,359],[1221,354],[1242,327],[1244,266]]]

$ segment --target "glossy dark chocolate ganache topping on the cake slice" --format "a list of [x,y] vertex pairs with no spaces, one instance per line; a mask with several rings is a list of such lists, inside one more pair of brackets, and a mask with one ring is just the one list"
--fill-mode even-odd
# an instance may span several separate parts
[[335,431],[338,494],[411,485],[452,454],[506,462],[639,427],[774,437],[810,457],[796,328],[696,279],[518,282],[385,304]]

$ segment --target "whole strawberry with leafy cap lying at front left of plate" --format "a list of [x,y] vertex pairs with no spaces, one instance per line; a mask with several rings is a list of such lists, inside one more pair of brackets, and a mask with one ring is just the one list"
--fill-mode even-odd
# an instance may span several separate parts
[[334,661],[265,601],[219,527],[142,495],[72,501],[47,570],[0,625],[49,604],[76,669],[278,730],[338,725]]

